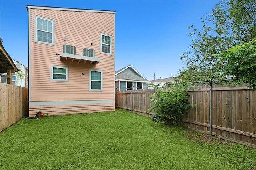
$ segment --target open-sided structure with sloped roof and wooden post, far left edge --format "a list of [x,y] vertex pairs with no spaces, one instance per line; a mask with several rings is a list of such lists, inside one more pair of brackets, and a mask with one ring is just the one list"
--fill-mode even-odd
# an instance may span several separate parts
[[[12,58],[4,49],[2,38],[0,38],[0,78],[1,83],[12,84],[12,73],[18,72],[18,68]],[[6,74],[2,74],[6,73]],[[2,80],[3,79],[3,80]]]

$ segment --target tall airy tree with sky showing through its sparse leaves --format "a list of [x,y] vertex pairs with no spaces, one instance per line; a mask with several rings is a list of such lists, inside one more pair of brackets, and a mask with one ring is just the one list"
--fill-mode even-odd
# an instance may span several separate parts
[[201,19],[201,29],[188,27],[193,38],[190,48],[180,56],[186,68],[179,77],[188,81],[223,79],[218,75],[219,56],[234,45],[249,42],[256,37],[255,0],[225,0],[216,4],[212,12]]

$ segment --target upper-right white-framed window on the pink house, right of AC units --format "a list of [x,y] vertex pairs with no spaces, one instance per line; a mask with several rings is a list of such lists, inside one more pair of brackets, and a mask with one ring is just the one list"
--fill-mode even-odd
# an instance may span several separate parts
[[100,53],[112,55],[112,36],[100,33]]

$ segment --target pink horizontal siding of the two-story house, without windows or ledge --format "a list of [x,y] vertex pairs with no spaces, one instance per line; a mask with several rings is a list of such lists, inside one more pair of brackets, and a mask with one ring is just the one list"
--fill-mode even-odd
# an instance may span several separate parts
[[[42,9],[31,9],[30,14],[30,102],[114,100],[115,14]],[[54,45],[34,42],[34,15],[54,20]],[[100,33],[112,36],[112,55],[100,53]],[[100,63],[60,61],[56,53],[63,52],[63,37],[66,37],[65,44],[76,47],[76,55],[82,55],[84,48],[94,49]],[[50,81],[51,65],[68,67],[68,82]],[[103,91],[89,91],[89,69],[102,71]],[[111,104],[110,110],[112,107]],[[33,108],[29,107],[31,114],[34,114]]]

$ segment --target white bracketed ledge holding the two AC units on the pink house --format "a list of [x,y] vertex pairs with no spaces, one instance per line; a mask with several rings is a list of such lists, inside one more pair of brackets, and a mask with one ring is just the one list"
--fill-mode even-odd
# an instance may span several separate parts
[[89,63],[92,65],[96,65],[100,62],[99,58],[94,57],[86,57],[83,55],[74,55],[68,53],[60,53],[60,61],[71,61],[71,62],[78,62],[78,63]]

